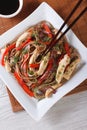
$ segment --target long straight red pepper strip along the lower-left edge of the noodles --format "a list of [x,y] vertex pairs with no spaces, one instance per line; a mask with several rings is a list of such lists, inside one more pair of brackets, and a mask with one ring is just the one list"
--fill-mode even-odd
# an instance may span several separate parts
[[24,81],[21,79],[21,77],[18,75],[17,72],[14,72],[14,76],[17,79],[18,83],[21,85],[21,87],[24,89],[24,91],[31,97],[34,96],[33,92],[28,88],[28,86],[24,83]]

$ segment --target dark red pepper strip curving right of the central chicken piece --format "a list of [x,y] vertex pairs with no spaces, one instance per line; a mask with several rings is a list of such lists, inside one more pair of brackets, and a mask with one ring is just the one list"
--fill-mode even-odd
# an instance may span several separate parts
[[47,76],[49,75],[49,72],[51,71],[52,67],[53,67],[53,59],[50,59],[46,71],[38,79],[38,84],[41,84],[47,78]]

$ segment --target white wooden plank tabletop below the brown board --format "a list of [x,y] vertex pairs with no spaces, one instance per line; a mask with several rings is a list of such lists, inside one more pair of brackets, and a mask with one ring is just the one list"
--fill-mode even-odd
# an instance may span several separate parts
[[87,91],[62,98],[39,121],[25,111],[12,112],[0,80],[0,130],[87,130]]

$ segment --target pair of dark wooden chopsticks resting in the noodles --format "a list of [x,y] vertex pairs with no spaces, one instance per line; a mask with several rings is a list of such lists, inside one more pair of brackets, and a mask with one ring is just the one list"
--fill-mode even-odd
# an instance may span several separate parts
[[77,10],[77,8],[80,6],[81,2],[83,0],[79,0],[78,3],[75,5],[69,16],[66,18],[65,22],[62,24],[56,35],[53,37],[53,39],[50,42],[50,46],[46,48],[46,50],[42,53],[41,56],[45,56],[52,48],[55,46],[56,43],[59,42],[59,40],[75,25],[75,23],[80,19],[80,17],[87,11],[87,7],[85,7],[82,12],[75,18],[75,20],[67,27],[67,29],[59,36],[57,39],[59,33],[62,31],[63,27],[67,24],[67,22],[70,20],[74,12]]

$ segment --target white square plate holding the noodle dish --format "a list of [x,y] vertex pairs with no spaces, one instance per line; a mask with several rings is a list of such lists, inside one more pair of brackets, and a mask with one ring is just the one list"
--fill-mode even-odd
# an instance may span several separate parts
[[[47,3],[43,2],[26,19],[0,36],[0,48],[18,37],[18,35],[24,32],[28,27],[35,25],[42,20],[49,21],[57,29],[59,29],[64,22]],[[81,63],[75,75],[66,84],[59,88],[56,94],[51,98],[37,101],[36,99],[29,97],[20,87],[15,78],[10,73],[6,72],[5,68],[0,65],[0,78],[4,81],[11,93],[27,113],[36,121],[39,121],[59,99],[87,78],[87,48],[71,30],[67,33],[66,37],[68,38],[69,43],[78,49],[81,55]]]

